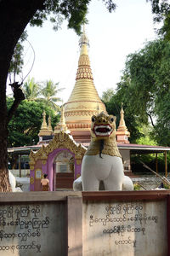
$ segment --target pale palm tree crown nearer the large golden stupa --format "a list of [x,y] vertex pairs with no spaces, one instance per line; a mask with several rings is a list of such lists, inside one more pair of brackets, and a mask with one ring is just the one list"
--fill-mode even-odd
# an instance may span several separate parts
[[60,108],[56,102],[62,102],[62,100],[61,98],[59,98],[59,96],[56,95],[65,88],[58,88],[59,83],[54,84],[52,80],[47,80],[43,84],[45,86],[41,90],[41,100],[44,102],[46,106],[54,109],[55,112],[58,112]]

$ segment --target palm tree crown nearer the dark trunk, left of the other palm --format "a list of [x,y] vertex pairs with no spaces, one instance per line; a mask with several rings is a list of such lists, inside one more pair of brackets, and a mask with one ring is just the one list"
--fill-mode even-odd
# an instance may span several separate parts
[[40,85],[35,82],[34,78],[29,78],[23,85],[23,92],[28,101],[37,101],[40,96]]

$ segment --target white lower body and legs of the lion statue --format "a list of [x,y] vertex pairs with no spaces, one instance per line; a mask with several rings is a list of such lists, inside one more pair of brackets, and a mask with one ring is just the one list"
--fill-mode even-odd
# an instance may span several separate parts
[[133,190],[133,182],[124,175],[120,157],[107,154],[102,154],[102,158],[99,155],[85,155],[82,160],[82,177],[73,183],[74,191],[99,191],[101,181],[105,190]]

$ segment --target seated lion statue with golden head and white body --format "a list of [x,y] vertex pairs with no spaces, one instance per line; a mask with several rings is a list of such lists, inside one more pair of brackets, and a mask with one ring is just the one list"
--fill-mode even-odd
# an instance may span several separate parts
[[116,117],[101,112],[92,117],[91,143],[82,160],[82,177],[73,189],[83,191],[133,190],[124,175],[122,156],[116,146]]

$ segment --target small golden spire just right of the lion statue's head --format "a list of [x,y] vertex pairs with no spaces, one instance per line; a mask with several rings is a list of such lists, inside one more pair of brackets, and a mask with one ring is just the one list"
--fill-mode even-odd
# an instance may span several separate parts
[[119,122],[119,126],[116,131],[116,141],[117,143],[129,143],[128,137],[130,137],[130,132],[127,131],[127,126],[125,124],[124,119],[124,111],[123,108],[121,108],[121,119]]

